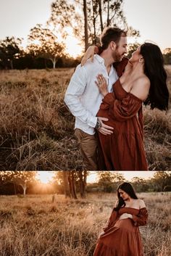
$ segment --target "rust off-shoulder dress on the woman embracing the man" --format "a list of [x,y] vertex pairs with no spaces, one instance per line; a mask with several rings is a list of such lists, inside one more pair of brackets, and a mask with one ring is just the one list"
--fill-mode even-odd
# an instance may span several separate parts
[[[125,62],[123,64],[117,68],[119,76],[125,67]],[[109,120],[104,123],[114,130],[111,135],[97,132],[99,170],[148,169],[143,146],[142,103],[122,88],[119,79],[113,85],[113,92],[104,96],[97,116],[107,117]]]

